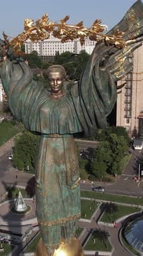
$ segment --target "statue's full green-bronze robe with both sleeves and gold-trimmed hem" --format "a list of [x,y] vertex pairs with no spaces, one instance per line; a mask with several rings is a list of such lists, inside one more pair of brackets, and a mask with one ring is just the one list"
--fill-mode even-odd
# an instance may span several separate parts
[[103,86],[101,79],[96,82],[95,72],[98,77],[98,65],[88,66],[80,82],[70,83],[69,89],[65,86],[61,99],[52,99],[48,89],[33,80],[25,62],[6,60],[2,66],[2,84],[13,115],[41,136],[35,170],[36,214],[48,252],[62,238],[68,241],[75,235],[75,221],[81,214],[73,134],[105,127],[115,105],[116,88],[110,74],[104,72]]

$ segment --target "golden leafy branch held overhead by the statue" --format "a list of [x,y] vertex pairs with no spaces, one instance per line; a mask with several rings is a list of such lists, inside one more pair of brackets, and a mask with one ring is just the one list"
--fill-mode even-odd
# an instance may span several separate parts
[[[15,38],[5,35],[3,37],[8,45],[12,46],[12,49],[17,54],[21,54],[21,46],[27,40],[32,42],[48,39],[52,33],[55,38],[61,39],[62,42],[69,40],[79,39],[81,45],[84,44],[85,38],[88,37],[92,41],[103,41],[107,45],[115,45],[117,48],[121,48],[125,45],[125,40],[122,38],[123,32],[117,30],[114,35],[105,35],[103,33],[104,26],[101,25],[101,20],[96,19],[90,28],[86,28],[83,22],[78,22],[75,25],[68,25],[69,16],[65,16],[60,22],[52,22],[48,20],[48,14],[42,16],[41,19],[34,22],[33,19],[25,19],[25,30]],[[9,40],[11,39],[11,40]]]

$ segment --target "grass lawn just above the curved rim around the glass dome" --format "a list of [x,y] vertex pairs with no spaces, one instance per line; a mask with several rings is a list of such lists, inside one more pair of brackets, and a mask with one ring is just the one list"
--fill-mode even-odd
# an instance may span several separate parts
[[117,221],[119,217],[123,217],[128,214],[133,214],[137,211],[138,208],[136,207],[125,207],[122,205],[118,205],[118,211],[113,212],[111,215],[108,213],[103,214],[100,221],[112,223]]

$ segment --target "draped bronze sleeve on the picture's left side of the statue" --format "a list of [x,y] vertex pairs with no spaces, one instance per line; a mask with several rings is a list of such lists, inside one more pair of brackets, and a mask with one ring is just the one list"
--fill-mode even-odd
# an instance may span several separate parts
[[25,62],[3,62],[2,86],[15,119],[27,130],[41,132],[38,109],[45,102],[44,87],[33,80],[32,70]]

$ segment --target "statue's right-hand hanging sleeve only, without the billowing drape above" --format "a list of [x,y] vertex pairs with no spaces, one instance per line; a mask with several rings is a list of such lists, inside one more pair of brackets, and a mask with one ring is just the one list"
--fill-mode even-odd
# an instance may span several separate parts
[[86,136],[107,126],[106,117],[117,99],[115,80],[108,70],[100,68],[103,52],[98,54],[98,47],[92,52],[79,83],[71,89],[75,109]]

